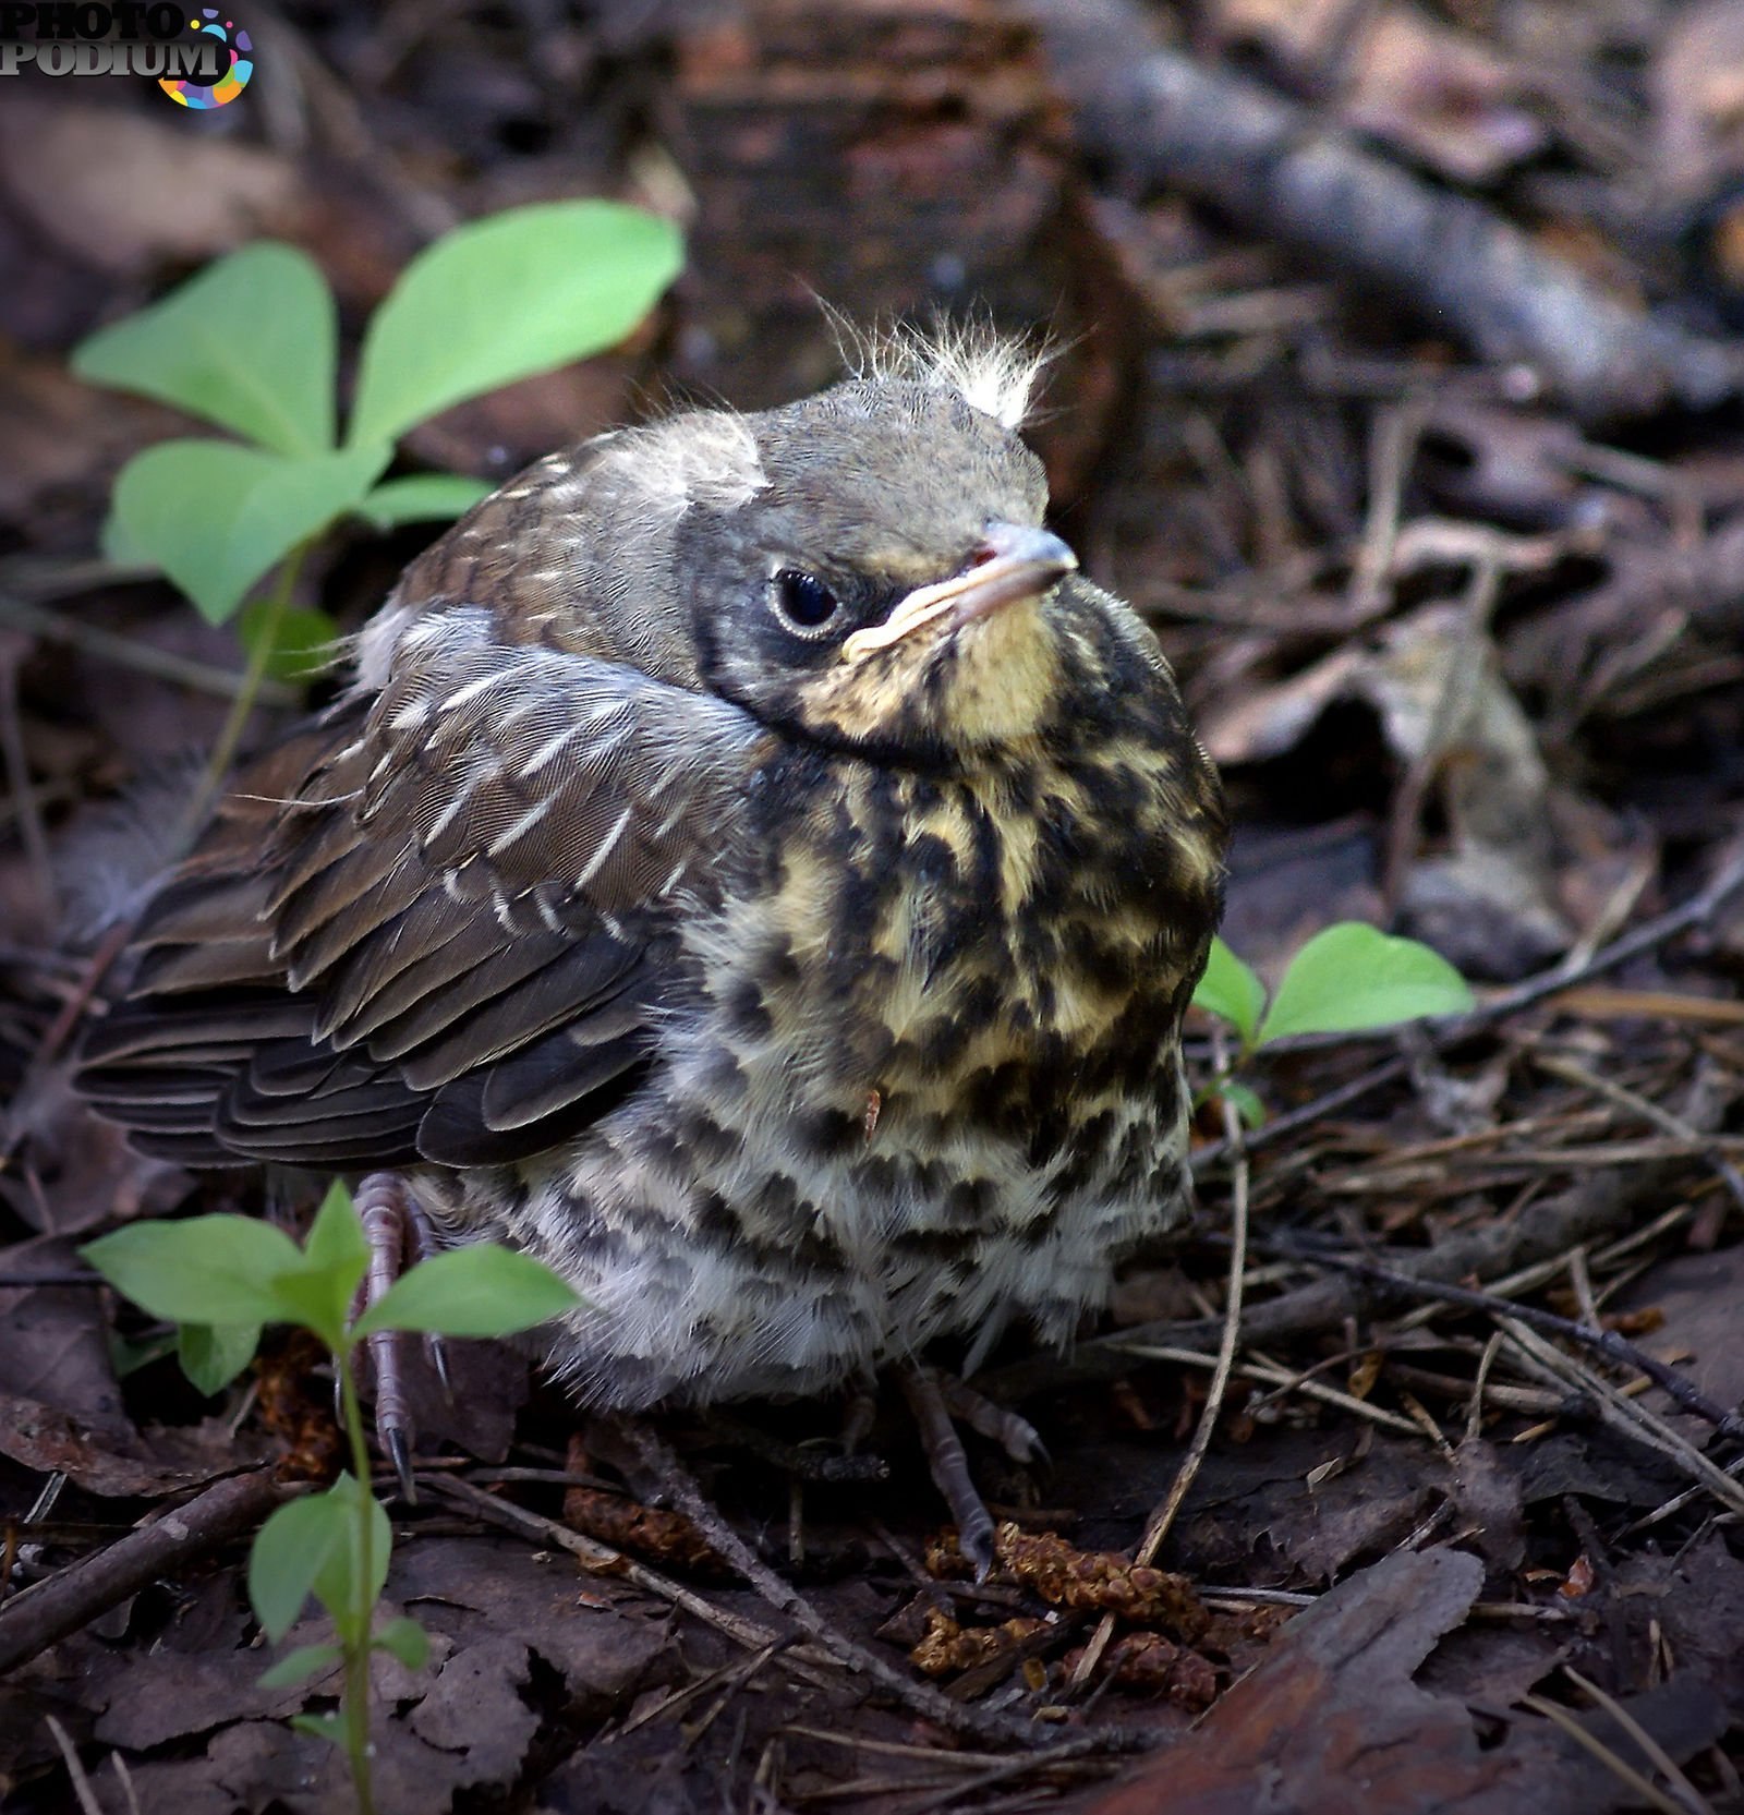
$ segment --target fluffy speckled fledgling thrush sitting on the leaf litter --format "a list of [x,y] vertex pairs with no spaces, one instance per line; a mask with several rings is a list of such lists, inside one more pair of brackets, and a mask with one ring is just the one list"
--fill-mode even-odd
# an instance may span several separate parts
[[1033,378],[904,341],[485,499],[152,897],[82,1087],[537,1254],[592,1407],[1067,1339],[1183,1212],[1225,815],[1042,528]]

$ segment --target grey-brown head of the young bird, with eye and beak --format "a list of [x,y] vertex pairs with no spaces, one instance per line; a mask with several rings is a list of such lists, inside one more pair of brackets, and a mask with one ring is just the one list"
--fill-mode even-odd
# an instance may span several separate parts
[[1018,383],[898,370],[742,417],[744,495],[693,506],[675,541],[706,684],[891,755],[1031,735],[1078,561],[1042,526]]

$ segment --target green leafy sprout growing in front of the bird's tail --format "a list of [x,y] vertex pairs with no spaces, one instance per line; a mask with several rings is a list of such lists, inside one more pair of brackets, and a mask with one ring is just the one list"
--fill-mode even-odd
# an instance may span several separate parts
[[260,1528],[249,1552],[249,1601],[272,1644],[290,1632],[310,1594],[332,1619],[330,1643],[298,1646],[261,1683],[289,1688],[341,1666],[338,1713],[296,1715],[292,1726],[345,1750],[358,1808],[370,1815],[370,1659],[385,1652],[421,1670],[428,1637],[416,1619],[376,1626],[394,1534],[370,1492],[358,1347],[374,1330],[510,1336],[579,1300],[530,1256],[472,1243],[419,1261],[354,1318],[368,1249],[343,1185],[328,1191],[301,1249],[252,1216],[191,1216],[131,1223],[80,1252],[118,1292],[178,1325],[181,1365],[205,1392],[218,1392],[249,1365],[267,1323],[301,1325],[332,1350],[350,1468],[325,1494],[289,1501]]

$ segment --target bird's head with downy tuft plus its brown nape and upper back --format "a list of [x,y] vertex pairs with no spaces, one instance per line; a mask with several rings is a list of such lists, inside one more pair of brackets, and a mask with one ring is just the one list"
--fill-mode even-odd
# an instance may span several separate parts
[[1036,365],[985,338],[907,339],[782,408],[601,436],[486,499],[399,597],[494,599],[517,641],[831,748],[955,764],[1020,744],[1071,717],[1111,608],[1042,526],[1016,434]]

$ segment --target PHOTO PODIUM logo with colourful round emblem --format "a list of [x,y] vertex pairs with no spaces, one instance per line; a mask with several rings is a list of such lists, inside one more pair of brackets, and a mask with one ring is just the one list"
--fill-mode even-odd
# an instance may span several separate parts
[[[189,36],[191,34],[191,36]],[[0,0],[0,76],[152,76],[180,107],[225,107],[254,74],[254,44],[218,7]]]

